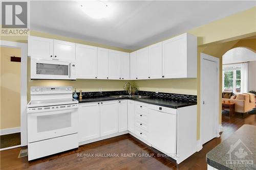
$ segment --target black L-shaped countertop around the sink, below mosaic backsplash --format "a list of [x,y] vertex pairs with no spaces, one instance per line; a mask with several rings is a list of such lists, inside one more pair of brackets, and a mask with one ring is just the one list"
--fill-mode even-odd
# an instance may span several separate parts
[[177,100],[170,100],[170,99],[162,99],[162,98],[143,98],[143,99],[134,99],[134,98],[112,98],[110,96],[102,96],[102,97],[95,97],[95,98],[85,98],[78,100],[79,103],[89,103],[89,102],[102,102],[102,101],[113,101],[113,100],[124,100],[130,99],[138,102],[170,107],[170,108],[180,108],[186,106],[197,105],[197,102],[185,102],[185,101],[177,101]]

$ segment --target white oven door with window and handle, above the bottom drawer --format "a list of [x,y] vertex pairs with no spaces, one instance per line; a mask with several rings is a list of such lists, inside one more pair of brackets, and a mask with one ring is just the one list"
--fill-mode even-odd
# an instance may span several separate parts
[[28,113],[28,142],[78,132],[78,109],[44,110]]

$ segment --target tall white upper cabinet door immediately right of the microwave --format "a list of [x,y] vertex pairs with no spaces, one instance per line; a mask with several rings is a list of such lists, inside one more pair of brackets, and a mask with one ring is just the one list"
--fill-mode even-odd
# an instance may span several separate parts
[[97,79],[97,47],[76,44],[76,78]]

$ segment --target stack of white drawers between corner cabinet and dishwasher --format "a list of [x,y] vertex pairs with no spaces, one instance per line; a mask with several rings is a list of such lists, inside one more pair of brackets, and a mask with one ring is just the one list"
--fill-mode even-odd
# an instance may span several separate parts
[[141,139],[148,139],[148,105],[135,102],[135,134]]

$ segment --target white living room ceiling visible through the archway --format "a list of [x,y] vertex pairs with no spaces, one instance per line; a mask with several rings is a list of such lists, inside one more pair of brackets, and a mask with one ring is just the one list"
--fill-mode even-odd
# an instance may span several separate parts
[[245,47],[236,47],[227,51],[222,57],[222,64],[256,61],[256,54]]

